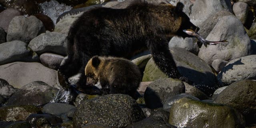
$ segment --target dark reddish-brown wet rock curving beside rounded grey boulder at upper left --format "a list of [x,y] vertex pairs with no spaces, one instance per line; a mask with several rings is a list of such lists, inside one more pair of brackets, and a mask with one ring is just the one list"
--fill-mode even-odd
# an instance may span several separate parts
[[52,32],[54,30],[55,24],[49,16],[44,14],[34,14],[33,16],[43,22],[46,31]]

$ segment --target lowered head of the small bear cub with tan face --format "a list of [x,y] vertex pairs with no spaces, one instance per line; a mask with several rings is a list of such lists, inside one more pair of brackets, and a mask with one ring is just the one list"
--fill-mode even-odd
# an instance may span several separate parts
[[99,56],[94,56],[88,61],[85,67],[85,76],[87,77],[86,85],[93,86],[94,84],[97,84],[100,61]]

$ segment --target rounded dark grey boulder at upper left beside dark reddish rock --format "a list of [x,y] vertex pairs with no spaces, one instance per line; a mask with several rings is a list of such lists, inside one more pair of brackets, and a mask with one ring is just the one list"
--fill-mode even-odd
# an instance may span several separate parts
[[35,16],[16,16],[9,24],[6,40],[7,42],[20,40],[28,43],[43,32],[45,32],[44,24]]

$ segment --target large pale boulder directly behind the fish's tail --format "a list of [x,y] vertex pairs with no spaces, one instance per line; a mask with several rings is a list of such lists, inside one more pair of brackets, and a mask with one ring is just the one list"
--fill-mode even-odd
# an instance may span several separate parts
[[223,16],[206,38],[210,41],[224,39],[228,42],[210,45],[207,48],[202,46],[198,56],[210,65],[215,59],[230,61],[251,54],[250,38],[242,22],[235,16]]

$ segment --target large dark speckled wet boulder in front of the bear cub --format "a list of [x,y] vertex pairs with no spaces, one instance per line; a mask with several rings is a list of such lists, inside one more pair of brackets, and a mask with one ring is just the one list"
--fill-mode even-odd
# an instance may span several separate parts
[[125,128],[143,118],[143,111],[132,97],[108,94],[79,104],[74,113],[73,125],[80,128],[85,124],[98,123],[111,128]]

